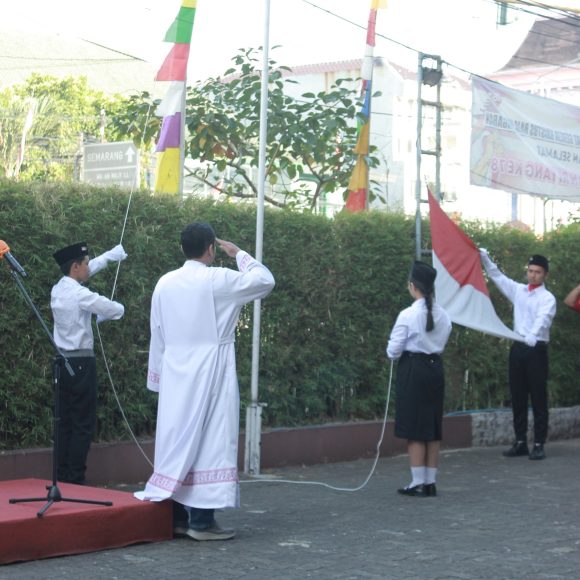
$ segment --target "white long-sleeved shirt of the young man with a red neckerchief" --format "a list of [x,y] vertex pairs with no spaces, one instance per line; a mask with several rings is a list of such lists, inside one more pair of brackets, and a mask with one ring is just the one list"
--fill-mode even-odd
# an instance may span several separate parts
[[483,259],[488,276],[514,305],[514,331],[522,336],[549,342],[550,326],[556,316],[556,298],[542,284],[533,290],[508,278],[489,259]]

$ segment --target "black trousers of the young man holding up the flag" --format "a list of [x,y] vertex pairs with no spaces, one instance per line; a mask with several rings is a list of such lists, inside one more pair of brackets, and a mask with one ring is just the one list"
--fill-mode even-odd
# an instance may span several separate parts
[[528,397],[534,414],[534,443],[548,435],[548,348],[514,342],[510,350],[509,380],[517,441],[528,439]]

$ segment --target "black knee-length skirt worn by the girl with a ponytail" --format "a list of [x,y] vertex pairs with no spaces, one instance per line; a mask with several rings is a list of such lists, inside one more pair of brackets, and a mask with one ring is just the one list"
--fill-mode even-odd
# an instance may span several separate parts
[[445,376],[438,354],[405,351],[397,367],[395,436],[440,441]]

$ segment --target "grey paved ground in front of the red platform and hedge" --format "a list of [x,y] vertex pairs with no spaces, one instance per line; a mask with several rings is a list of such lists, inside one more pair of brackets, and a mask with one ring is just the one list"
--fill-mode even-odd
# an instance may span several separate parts
[[[241,509],[218,514],[237,528],[235,540],[179,539],[12,564],[0,567],[0,578],[580,578],[580,440],[548,444],[545,461],[501,451],[444,452],[436,498],[395,492],[408,480],[406,456],[381,459],[355,493],[243,483]],[[356,487],[371,466],[268,474]]]

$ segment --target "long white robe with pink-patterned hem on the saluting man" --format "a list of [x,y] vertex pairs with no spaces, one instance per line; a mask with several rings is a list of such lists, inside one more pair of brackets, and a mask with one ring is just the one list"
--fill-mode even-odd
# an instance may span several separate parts
[[155,467],[139,499],[239,505],[234,335],[242,306],[267,296],[274,277],[246,252],[236,261],[239,271],[187,260],[155,287],[147,377],[159,393]]

